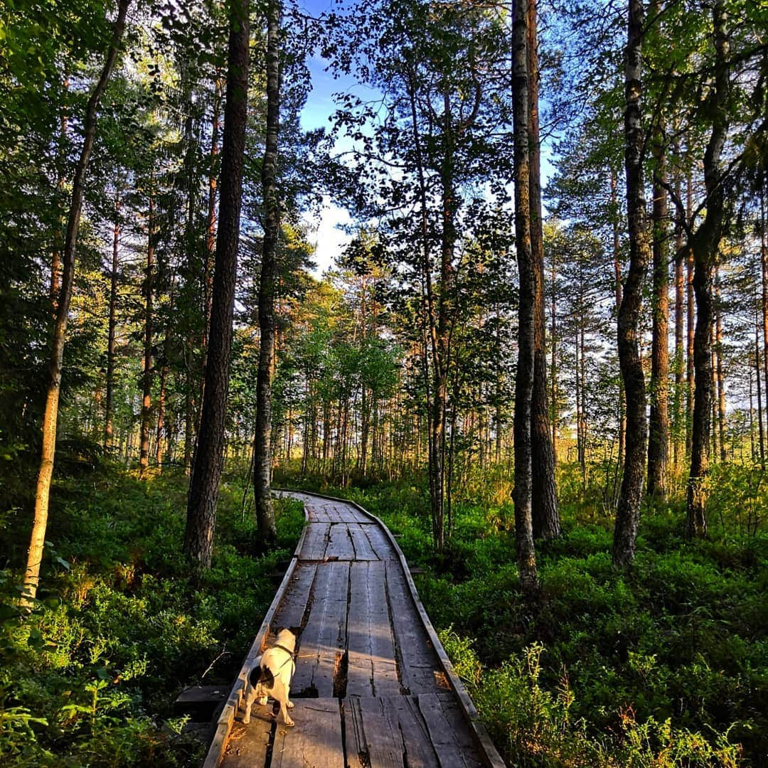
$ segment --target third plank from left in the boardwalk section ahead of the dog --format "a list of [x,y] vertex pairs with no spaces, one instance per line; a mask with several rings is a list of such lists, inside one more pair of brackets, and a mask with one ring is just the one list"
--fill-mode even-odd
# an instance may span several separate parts
[[347,616],[348,696],[389,696],[400,692],[386,602],[384,564],[353,563]]

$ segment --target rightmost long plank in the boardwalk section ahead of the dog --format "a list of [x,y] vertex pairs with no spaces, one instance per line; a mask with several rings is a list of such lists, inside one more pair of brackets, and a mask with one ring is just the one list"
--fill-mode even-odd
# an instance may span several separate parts
[[411,694],[435,693],[442,679],[437,654],[413,604],[399,561],[385,561],[385,567],[402,685]]

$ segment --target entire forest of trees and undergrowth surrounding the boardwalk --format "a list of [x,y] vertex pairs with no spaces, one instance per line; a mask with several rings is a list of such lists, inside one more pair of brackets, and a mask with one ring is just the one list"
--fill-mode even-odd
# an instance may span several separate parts
[[5,0],[3,762],[194,763],[286,485],[401,535],[508,764],[768,765],[766,30]]

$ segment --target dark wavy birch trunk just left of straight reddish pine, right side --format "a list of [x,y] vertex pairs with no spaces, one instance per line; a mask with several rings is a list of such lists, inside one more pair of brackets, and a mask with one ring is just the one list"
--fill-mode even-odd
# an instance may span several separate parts
[[643,127],[640,98],[641,50],[643,42],[642,0],[629,0],[627,22],[627,71],[624,80],[624,164],[627,174],[627,221],[629,225],[629,269],[618,314],[618,353],[624,393],[627,398],[627,433],[624,475],[616,510],[613,563],[627,568],[634,561],[637,523],[643,498],[647,421],[645,378],[637,346],[643,280],[650,262],[645,200],[643,199]]

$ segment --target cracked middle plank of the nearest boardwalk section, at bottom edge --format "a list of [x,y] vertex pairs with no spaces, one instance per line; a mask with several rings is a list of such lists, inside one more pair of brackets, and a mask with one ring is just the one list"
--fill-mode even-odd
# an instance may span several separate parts
[[[366,701],[366,713],[362,710]],[[402,768],[402,737],[384,713],[380,699],[353,697],[344,703],[346,749],[350,766]],[[355,757],[358,763],[354,762]]]

